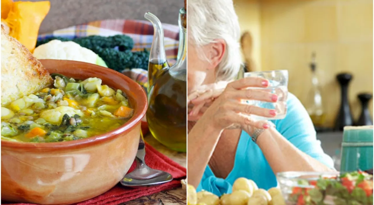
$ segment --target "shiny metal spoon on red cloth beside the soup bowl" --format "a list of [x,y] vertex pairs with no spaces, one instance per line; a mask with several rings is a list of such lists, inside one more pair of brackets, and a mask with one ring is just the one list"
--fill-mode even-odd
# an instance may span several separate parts
[[145,144],[143,135],[140,134],[138,153],[135,157],[137,167],[128,173],[121,180],[121,184],[126,187],[155,186],[173,180],[168,172],[152,169],[144,162]]

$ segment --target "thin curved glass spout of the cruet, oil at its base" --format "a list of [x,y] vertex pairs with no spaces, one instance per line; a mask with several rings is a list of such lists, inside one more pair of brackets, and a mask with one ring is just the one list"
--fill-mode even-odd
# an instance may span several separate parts
[[147,91],[149,91],[160,74],[162,74],[165,69],[169,68],[169,65],[166,60],[164,33],[160,20],[150,12],[145,13],[144,17],[152,23],[154,30],[148,63]]

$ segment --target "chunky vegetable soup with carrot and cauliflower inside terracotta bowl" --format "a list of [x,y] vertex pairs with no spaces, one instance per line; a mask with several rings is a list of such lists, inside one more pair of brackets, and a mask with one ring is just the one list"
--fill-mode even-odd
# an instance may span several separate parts
[[1,139],[60,142],[104,134],[133,115],[126,94],[96,77],[51,74],[52,86],[1,107]]

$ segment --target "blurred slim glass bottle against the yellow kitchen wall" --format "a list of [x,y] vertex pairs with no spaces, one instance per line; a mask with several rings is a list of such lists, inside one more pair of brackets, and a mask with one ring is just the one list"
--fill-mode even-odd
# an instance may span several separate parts
[[312,53],[312,62],[310,69],[312,70],[312,88],[308,94],[307,111],[313,121],[315,127],[322,127],[325,123],[326,113],[322,103],[321,89],[319,88],[319,81],[316,74],[316,53]]

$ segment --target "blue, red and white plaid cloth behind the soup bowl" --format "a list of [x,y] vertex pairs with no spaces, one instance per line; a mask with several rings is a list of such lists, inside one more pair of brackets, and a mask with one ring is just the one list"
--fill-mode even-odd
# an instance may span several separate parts
[[[176,22],[177,23],[177,22]],[[179,27],[178,25],[162,24],[164,30],[164,43],[166,58],[170,65],[175,63],[178,54]],[[53,31],[39,35],[38,39],[47,37],[65,37],[74,39],[84,36],[114,36],[117,34],[126,34],[134,39],[133,51],[142,49],[151,49],[153,41],[153,25],[149,21],[142,20],[123,20],[110,19],[104,21],[93,21],[88,24],[76,25],[61,30]],[[131,69],[123,72],[126,76],[131,77],[142,86],[147,83],[147,71],[143,69]]]

